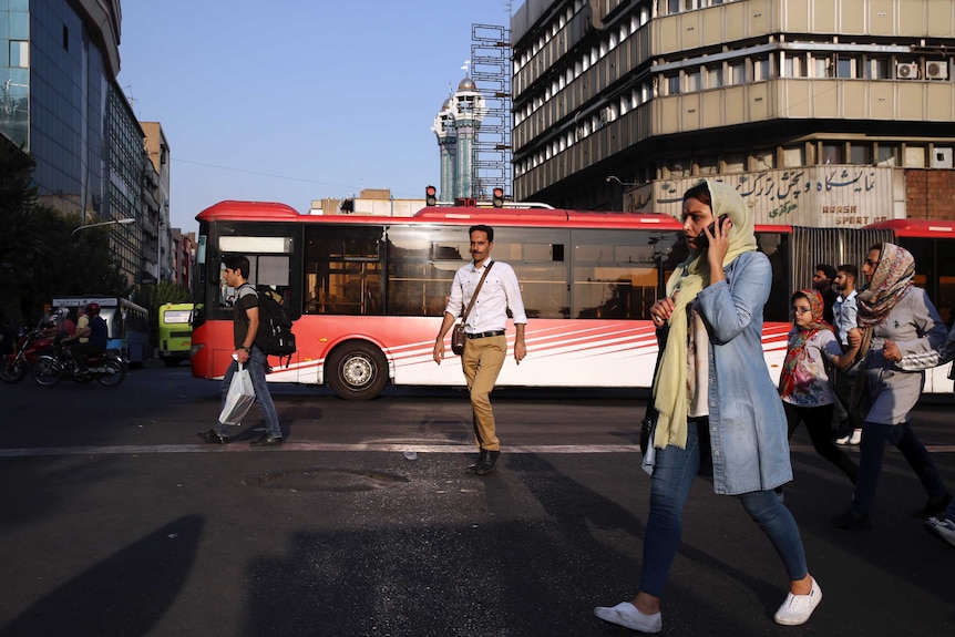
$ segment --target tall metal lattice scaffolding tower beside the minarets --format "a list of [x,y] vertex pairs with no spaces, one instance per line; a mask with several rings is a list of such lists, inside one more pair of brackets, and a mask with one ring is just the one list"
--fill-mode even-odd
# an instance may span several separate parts
[[471,25],[471,80],[484,97],[486,114],[474,144],[474,196],[490,199],[494,188],[511,197],[511,31]]

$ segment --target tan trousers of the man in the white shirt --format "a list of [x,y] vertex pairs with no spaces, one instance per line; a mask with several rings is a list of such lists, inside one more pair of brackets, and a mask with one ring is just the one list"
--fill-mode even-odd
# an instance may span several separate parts
[[507,337],[469,338],[461,355],[461,369],[471,392],[471,411],[474,413],[474,438],[478,449],[500,451],[501,442],[494,427],[491,392],[507,356]]

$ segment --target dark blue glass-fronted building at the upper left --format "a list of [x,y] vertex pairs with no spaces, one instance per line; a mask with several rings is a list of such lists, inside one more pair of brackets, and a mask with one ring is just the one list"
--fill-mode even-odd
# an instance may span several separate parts
[[[0,134],[30,153],[38,199],[83,224],[141,220],[143,131],[116,84],[120,0],[0,0]],[[140,223],[112,228],[140,274]]]

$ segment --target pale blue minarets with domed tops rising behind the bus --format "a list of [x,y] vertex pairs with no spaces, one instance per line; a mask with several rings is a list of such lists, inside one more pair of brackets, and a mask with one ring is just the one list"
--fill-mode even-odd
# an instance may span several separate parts
[[465,75],[458,91],[444,101],[435,115],[431,130],[438,137],[441,154],[439,199],[450,202],[480,196],[475,140],[486,112],[484,97],[474,81]]

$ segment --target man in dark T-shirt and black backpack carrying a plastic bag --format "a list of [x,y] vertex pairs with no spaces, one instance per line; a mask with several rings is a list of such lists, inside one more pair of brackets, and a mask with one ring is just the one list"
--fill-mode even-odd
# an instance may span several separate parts
[[[278,423],[278,413],[271,394],[268,392],[268,383],[265,380],[268,368],[268,357],[255,345],[258,333],[259,311],[258,292],[248,282],[249,263],[242,255],[230,255],[223,259],[225,269],[223,277],[226,284],[235,289],[235,309],[233,310],[233,338],[235,351],[233,361],[229,363],[226,376],[222,382],[222,404],[225,407],[226,395],[229,391],[233,374],[238,371],[239,363],[245,364],[255,389],[255,402],[265,419],[266,433],[258,440],[251,441],[253,446],[271,446],[281,444],[285,439]],[[216,422],[215,428],[198,433],[198,436],[213,444],[226,444],[228,439],[228,425]]]

